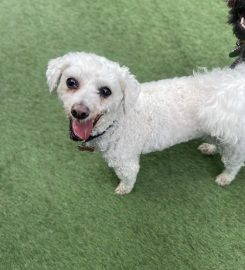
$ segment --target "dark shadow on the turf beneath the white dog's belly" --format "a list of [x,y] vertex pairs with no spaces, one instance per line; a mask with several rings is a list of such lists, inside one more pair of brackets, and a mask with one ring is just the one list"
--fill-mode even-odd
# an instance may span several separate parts
[[171,189],[188,189],[188,185],[193,188],[214,184],[223,164],[219,155],[202,155],[197,150],[201,143],[195,140],[143,155],[136,182],[138,192],[161,196]]

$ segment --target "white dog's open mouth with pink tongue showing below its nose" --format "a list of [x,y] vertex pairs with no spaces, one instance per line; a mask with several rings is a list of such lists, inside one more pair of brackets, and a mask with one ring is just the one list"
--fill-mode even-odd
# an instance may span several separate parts
[[70,138],[74,141],[86,141],[92,134],[93,128],[99,121],[102,114],[94,119],[78,120],[70,117]]

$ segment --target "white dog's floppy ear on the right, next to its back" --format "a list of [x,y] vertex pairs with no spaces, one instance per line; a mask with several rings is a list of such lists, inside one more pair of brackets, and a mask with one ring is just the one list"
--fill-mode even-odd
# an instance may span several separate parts
[[135,104],[140,93],[140,84],[127,67],[121,67],[121,87],[123,92],[123,109],[127,113]]

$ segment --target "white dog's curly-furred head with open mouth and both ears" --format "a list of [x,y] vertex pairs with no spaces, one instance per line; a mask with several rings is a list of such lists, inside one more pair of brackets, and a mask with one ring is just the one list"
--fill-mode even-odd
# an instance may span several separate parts
[[70,119],[74,140],[103,132],[134,106],[140,87],[128,68],[90,53],[69,53],[50,60],[49,89],[57,90]]

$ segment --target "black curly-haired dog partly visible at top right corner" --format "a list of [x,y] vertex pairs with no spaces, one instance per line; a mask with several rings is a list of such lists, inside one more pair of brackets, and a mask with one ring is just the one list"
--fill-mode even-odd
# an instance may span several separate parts
[[237,37],[236,48],[229,54],[230,57],[237,57],[231,65],[234,68],[237,64],[245,61],[245,0],[228,0],[229,20],[233,27],[233,33]]

